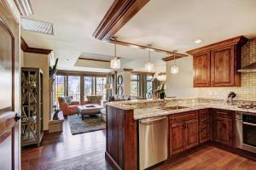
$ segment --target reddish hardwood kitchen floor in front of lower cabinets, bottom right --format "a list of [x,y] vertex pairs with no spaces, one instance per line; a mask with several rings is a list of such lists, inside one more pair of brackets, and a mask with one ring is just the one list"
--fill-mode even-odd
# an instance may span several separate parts
[[256,161],[238,156],[213,146],[207,146],[184,156],[157,170],[255,170]]

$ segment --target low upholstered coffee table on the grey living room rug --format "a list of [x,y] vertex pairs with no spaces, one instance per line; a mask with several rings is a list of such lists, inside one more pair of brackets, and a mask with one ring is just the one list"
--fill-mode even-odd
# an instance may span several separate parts
[[95,115],[100,114],[101,109],[104,107],[102,105],[90,104],[90,105],[79,105],[78,106],[78,114],[82,116],[82,120],[84,120],[85,115]]

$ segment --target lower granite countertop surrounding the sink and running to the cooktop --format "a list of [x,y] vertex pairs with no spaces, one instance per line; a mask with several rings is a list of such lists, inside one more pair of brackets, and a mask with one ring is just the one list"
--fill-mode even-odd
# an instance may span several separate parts
[[201,109],[224,109],[224,110],[230,110],[230,111],[242,111],[242,112],[250,112],[255,113],[256,110],[253,109],[242,109],[238,108],[238,105],[225,105],[225,104],[209,104],[209,103],[193,103],[193,104],[183,104],[182,106],[187,106],[188,108],[184,109],[178,109],[178,110],[171,110],[171,111],[165,111],[160,108],[143,108],[143,109],[135,109],[134,110],[134,119],[144,119],[144,118],[150,118],[154,116],[166,116],[166,115],[172,115],[175,113],[182,113],[186,111],[197,111]]

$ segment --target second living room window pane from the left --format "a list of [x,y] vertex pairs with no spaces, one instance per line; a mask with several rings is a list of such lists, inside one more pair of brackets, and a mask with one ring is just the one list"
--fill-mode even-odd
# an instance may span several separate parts
[[80,77],[68,76],[68,96],[80,101]]

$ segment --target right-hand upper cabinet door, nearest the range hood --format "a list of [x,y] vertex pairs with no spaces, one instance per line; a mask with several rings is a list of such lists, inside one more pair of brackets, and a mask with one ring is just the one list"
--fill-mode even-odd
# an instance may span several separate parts
[[212,50],[212,86],[235,86],[234,46]]

